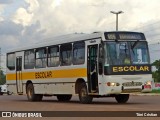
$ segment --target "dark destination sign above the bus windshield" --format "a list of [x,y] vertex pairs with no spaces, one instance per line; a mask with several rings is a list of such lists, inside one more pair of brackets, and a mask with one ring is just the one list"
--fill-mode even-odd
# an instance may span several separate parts
[[143,33],[136,32],[106,32],[107,40],[145,40]]

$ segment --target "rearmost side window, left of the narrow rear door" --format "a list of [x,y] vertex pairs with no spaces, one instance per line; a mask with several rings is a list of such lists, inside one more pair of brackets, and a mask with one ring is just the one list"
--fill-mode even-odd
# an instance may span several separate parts
[[15,53],[7,54],[7,67],[9,70],[15,70]]

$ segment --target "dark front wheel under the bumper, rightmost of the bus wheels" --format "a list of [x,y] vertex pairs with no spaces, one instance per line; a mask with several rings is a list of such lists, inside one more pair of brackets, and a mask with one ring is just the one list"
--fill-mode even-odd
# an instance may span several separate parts
[[129,94],[116,95],[115,99],[118,103],[126,103],[129,99]]

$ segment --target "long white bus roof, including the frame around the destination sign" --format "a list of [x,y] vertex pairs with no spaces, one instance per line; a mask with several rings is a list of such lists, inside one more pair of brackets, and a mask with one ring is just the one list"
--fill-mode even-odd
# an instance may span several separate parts
[[[115,37],[113,36],[113,33],[115,34]],[[138,38],[138,36],[134,36],[134,35],[138,34],[138,35],[142,36],[143,40],[145,40],[145,36],[143,33],[130,32],[130,31],[93,32],[90,34],[74,33],[74,34],[67,34],[67,35],[61,35],[61,36],[43,39],[44,41],[41,41],[39,43],[33,43],[30,46],[23,46],[23,47],[19,47],[16,49],[12,49],[12,50],[9,50],[7,53],[18,52],[18,51],[40,48],[40,47],[46,47],[46,46],[52,46],[52,45],[59,45],[59,44],[63,44],[63,43],[91,40],[91,39],[96,39],[96,38],[101,38],[103,41],[105,41],[107,39],[113,40],[113,39],[117,38],[117,35],[120,35],[122,33],[126,33],[126,36],[123,35],[123,38],[124,37],[128,38],[128,37],[130,37],[130,35],[132,35],[131,37],[136,39],[136,37]],[[111,35],[111,37],[113,37],[113,39],[111,39],[110,36],[109,36],[110,38],[108,37],[109,34]],[[120,38],[120,37],[118,37],[118,38]]]

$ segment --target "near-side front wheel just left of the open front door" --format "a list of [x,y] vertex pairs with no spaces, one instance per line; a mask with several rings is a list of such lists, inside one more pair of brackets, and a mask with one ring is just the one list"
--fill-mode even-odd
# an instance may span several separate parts
[[83,104],[89,104],[93,100],[93,97],[88,95],[87,86],[85,83],[82,83],[79,88],[79,100]]

